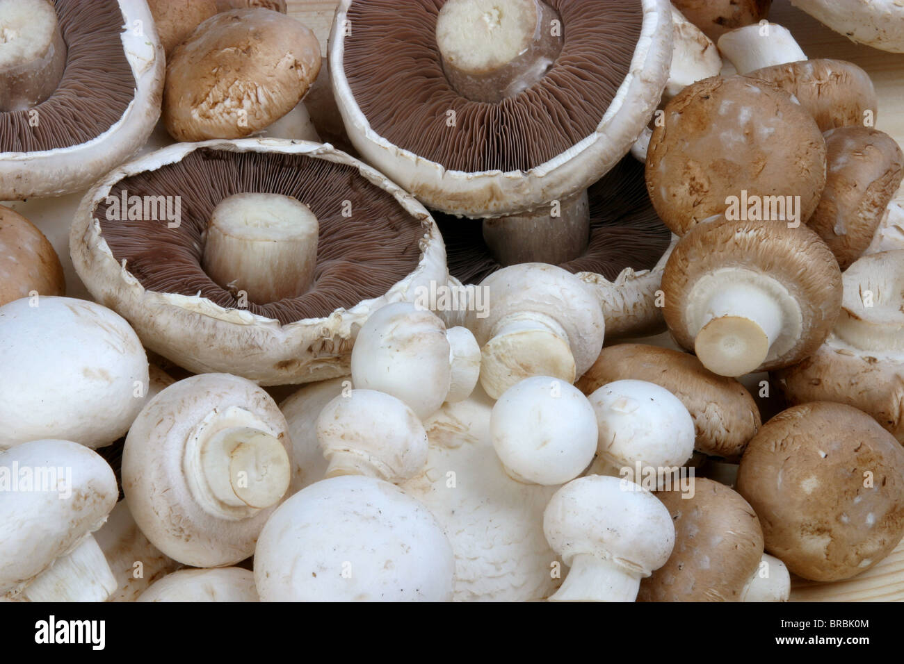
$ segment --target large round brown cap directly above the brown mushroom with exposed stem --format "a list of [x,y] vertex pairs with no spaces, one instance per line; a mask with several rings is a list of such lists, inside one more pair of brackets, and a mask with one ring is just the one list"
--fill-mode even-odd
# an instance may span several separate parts
[[825,141],[805,108],[743,76],[703,79],[665,107],[646,159],[650,200],[683,235],[729,209],[731,196],[799,196],[808,220],[825,186]]

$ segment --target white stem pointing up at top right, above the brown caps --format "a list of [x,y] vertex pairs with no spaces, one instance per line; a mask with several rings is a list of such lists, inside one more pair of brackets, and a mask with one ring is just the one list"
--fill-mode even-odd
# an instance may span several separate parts
[[782,25],[747,25],[719,38],[719,51],[739,74],[786,62],[806,60],[806,53]]

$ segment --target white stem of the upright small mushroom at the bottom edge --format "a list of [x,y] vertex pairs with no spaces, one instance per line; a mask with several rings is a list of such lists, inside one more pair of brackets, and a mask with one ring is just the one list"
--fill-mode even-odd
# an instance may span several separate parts
[[639,589],[640,577],[612,560],[578,554],[550,602],[634,602]]

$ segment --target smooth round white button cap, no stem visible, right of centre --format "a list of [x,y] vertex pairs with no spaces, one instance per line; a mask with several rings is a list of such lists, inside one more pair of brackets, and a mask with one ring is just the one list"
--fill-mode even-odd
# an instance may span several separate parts
[[505,390],[493,407],[490,435],[506,472],[519,482],[569,482],[587,468],[597,448],[597,422],[587,397],[548,376]]

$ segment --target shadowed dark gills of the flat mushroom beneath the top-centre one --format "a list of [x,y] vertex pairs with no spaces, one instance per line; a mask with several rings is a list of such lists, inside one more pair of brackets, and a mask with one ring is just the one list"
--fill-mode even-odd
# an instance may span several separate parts
[[[626,267],[647,270],[665,253],[672,233],[656,215],[646,192],[644,164],[630,155],[588,190],[590,241],[587,251],[559,267],[593,272],[609,281]],[[432,212],[446,242],[449,273],[477,284],[503,266],[486,247],[481,221]]]

